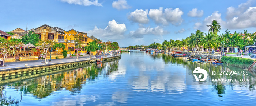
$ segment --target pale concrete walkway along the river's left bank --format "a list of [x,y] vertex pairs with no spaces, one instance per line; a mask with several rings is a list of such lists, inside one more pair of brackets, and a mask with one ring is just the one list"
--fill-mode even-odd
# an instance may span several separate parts
[[[103,56],[103,55],[100,55],[100,56]],[[108,54],[107,57],[111,57],[111,56]],[[90,55],[79,56],[78,60],[86,60],[87,58],[90,59]],[[103,58],[106,58],[106,57],[104,56]],[[76,59],[76,57],[71,57],[71,58],[64,58],[64,59],[52,59],[51,62],[49,62],[49,60],[46,60],[46,62],[48,61],[48,64],[55,64],[55,63],[76,61],[75,59]],[[92,55],[91,59],[94,60],[95,55]],[[42,60],[8,62],[8,66],[6,66],[7,64],[5,63],[4,67],[0,66],[0,70],[8,69],[8,68],[24,67],[25,66],[24,64],[28,64],[27,66],[36,66],[36,65],[44,65],[45,63],[44,63],[44,61],[42,62]]]

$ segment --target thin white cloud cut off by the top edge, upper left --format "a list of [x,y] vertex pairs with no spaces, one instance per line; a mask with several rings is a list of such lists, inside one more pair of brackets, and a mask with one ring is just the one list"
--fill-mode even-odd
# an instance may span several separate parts
[[78,4],[78,5],[96,5],[96,6],[102,6],[102,3],[98,3],[98,0],[60,0],[63,2],[67,2],[69,4]]

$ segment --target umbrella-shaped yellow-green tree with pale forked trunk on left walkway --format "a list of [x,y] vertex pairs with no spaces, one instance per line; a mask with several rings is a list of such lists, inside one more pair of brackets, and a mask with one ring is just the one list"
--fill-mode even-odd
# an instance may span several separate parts
[[43,50],[43,53],[45,54],[45,62],[46,62],[48,49],[50,47],[53,47],[54,42],[52,40],[40,40],[40,42],[38,42],[36,45],[39,46],[41,50]]

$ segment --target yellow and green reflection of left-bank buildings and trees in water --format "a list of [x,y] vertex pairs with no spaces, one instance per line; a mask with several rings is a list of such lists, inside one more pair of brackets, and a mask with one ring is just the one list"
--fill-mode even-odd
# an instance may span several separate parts
[[71,93],[79,93],[86,80],[96,79],[99,75],[111,75],[115,70],[118,70],[118,60],[111,61],[109,64],[103,63],[101,68],[97,68],[96,64],[91,64],[91,66],[84,68],[26,79],[11,83],[8,86],[20,90],[21,93],[31,93],[39,98],[47,97],[52,92],[60,89],[66,89]]

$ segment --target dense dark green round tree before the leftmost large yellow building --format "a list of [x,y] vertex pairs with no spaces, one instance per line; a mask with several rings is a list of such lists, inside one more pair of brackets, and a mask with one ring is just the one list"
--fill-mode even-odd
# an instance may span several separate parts
[[25,36],[21,37],[21,41],[24,44],[28,44],[31,43],[33,45],[36,45],[37,43],[40,42],[41,39],[39,39],[39,35],[35,34],[34,32],[32,33],[32,31],[29,31],[29,34],[25,34]]

